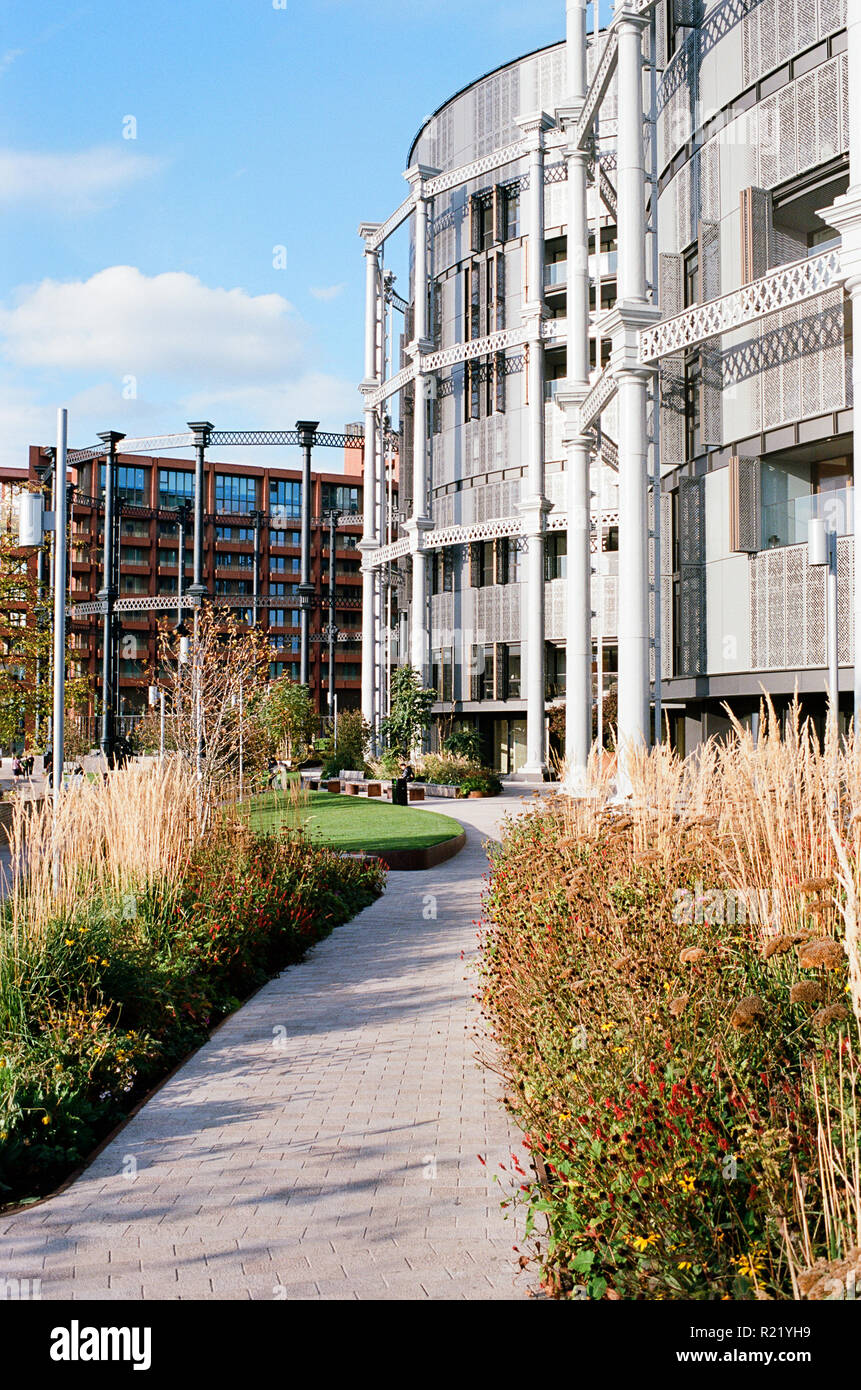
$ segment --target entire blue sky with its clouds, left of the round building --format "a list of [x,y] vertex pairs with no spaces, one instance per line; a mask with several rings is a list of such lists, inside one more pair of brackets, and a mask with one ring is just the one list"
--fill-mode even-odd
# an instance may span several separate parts
[[0,0],[0,463],[57,404],[81,445],[359,418],[359,222],[427,114],[563,31],[563,0]]

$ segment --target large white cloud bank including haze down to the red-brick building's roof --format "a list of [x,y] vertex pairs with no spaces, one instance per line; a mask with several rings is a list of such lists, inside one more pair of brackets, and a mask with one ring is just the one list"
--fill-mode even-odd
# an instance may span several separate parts
[[[53,441],[57,404],[68,406],[75,448],[103,430],[174,434],[198,418],[221,430],[292,430],[306,418],[341,431],[360,418],[356,382],[319,370],[309,338],[281,295],[210,288],[185,272],[114,265],[22,289],[0,306],[0,463],[25,464],[28,445]],[[252,463],[284,450],[230,456]]]

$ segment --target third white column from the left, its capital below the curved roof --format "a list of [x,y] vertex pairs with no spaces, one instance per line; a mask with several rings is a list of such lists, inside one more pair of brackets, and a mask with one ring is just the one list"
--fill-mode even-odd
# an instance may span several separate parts
[[529,147],[529,199],[526,292],[523,327],[529,368],[526,421],[527,477],[520,499],[526,537],[524,588],[522,605],[522,652],[526,664],[526,763],[530,777],[547,774],[544,735],[544,530],[548,512],[544,496],[544,131],[552,121],[544,111],[522,115],[517,125]]

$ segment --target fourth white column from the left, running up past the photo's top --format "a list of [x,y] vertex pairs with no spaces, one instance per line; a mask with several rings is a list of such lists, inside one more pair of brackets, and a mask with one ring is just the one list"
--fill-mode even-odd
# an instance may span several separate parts
[[588,391],[588,218],[586,150],[574,128],[586,96],[586,0],[568,0],[569,101],[556,111],[569,133],[568,164],[568,381],[556,403],[565,410],[568,471],[568,582],[565,760],[566,788],[583,791],[593,739],[593,619],[590,545],[590,441],[580,428]]

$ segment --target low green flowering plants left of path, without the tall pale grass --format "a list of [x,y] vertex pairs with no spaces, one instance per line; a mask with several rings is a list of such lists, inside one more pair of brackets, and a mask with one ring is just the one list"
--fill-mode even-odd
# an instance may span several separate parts
[[18,948],[0,926],[0,1202],[49,1191],[241,999],[383,891],[384,869],[285,834],[82,901]]

